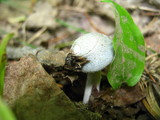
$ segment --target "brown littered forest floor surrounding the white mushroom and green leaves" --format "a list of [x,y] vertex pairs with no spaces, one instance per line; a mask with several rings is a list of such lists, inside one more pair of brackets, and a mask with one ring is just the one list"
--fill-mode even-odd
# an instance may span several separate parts
[[65,64],[79,58],[66,57],[84,33],[114,36],[110,6],[97,0],[0,1],[0,39],[14,33],[7,47],[4,100],[18,120],[160,119],[160,2],[115,1],[144,35],[146,66],[136,86],[118,90],[102,74],[101,91],[93,90],[88,105],[82,104],[86,74]]

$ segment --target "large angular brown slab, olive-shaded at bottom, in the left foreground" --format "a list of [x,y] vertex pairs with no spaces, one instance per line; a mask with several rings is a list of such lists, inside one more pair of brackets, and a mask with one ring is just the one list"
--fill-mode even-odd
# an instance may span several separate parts
[[18,120],[85,120],[33,55],[7,66],[4,99]]

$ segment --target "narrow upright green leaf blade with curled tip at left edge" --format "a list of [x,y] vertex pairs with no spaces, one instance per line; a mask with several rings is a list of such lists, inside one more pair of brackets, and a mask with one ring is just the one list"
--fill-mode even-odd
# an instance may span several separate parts
[[6,46],[8,41],[13,37],[13,34],[7,34],[0,43],[0,96],[3,95],[4,73],[6,65]]

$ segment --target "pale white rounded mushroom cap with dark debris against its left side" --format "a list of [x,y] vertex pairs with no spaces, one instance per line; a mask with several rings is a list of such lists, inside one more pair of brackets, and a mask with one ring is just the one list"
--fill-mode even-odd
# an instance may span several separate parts
[[112,40],[101,33],[87,33],[79,37],[71,50],[75,55],[89,60],[82,68],[86,73],[104,69],[114,58]]

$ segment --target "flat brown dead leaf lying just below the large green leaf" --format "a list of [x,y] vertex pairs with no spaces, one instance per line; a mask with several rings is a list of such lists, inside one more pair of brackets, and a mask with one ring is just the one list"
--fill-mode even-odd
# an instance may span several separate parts
[[[108,99],[108,95],[110,99]],[[116,91],[106,90],[101,99],[109,102],[112,106],[125,107],[142,100],[145,96],[145,90],[142,90],[139,84],[137,84],[134,87],[122,87]]]

